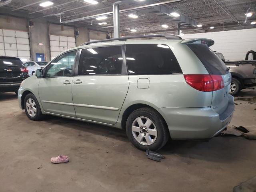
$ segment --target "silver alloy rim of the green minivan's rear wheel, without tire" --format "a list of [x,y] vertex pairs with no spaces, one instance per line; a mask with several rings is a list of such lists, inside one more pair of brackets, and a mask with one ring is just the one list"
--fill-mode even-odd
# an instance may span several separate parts
[[151,145],[156,141],[157,129],[147,117],[137,117],[132,123],[132,135],[142,145]]

